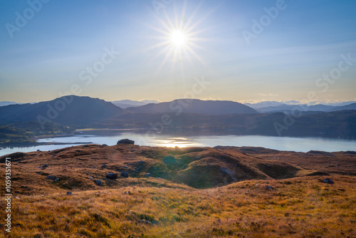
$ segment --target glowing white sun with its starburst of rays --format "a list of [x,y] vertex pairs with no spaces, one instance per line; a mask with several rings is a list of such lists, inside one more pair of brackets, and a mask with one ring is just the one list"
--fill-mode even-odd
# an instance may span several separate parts
[[[204,38],[201,36],[204,32],[211,29],[211,26],[200,28],[201,23],[206,19],[207,16],[211,14],[209,11],[207,14],[200,19],[197,19],[197,14],[199,9],[201,9],[203,1],[195,7],[189,18],[186,19],[187,14],[187,1],[184,1],[182,5],[182,11],[178,13],[175,5],[173,9],[173,16],[169,16],[167,11],[164,11],[164,16],[155,16],[160,26],[150,26],[157,32],[158,36],[151,36],[151,39],[160,41],[152,46],[145,48],[146,51],[159,50],[153,58],[165,55],[162,62],[159,63],[157,68],[157,73],[162,70],[165,64],[172,63],[171,70],[179,67],[182,75],[184,75],[184,61],[189,63],[189,65],[194,66],[194,63],[201,63],[205,65],[204,60],[199,56],[199,51],[205,51],[206,48],[201,46],[201,42],[209,41],[209,38]],[[177,65],[179,64],[179,66]]]

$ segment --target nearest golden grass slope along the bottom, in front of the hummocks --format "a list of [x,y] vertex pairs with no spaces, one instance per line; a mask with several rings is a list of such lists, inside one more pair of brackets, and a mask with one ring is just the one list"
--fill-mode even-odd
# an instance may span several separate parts
[[356,237],[355,177],[321,178],[22,196],[9,237]]

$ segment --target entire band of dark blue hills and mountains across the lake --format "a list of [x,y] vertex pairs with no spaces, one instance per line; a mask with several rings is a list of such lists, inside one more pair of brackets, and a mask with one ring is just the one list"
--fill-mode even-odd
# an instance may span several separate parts
[[[128,103],[132,102],[135,105],[148,103]],[[0,125],[19,127],[19,123],[26,123],[28,128],[28,125],[36,123],[37,128],[38,125],[42,128],[47,125],[49,128],[53,127],[51,123],[58,123],[75,128],[137,128],[154,131],[163,128],[172,132],[356,138],[356,103],[337,107],[313,105],[308,108],[310,113],[286,119],[288,115],[284,112],[295,107],[298,105],[282,104],[255,110],[233,101],[178,99],[122,109],[99,98],[68,95],[41,103],[1,106]],[[282,133],[278,133],[278,130]]]

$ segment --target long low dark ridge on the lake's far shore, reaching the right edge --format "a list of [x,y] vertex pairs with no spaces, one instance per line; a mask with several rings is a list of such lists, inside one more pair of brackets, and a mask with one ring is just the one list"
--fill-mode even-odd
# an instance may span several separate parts
[[[169,123],[162,127],[162,118]],[[271,135],[295,137],[356,138],[356,110],[305,114],[298,118],[284,113],[201,115],[196,113],[127,113],[95,124],[96,128],[150,128],[164,132],[222,133],[224,135]],[[287,125],[285,125],[287,121]],[[153,124],[155,123],[155,124]],[[153,127],[152,127],[153,125]],[[275,125],[279,125],[278,134]],[[283,127],[284,125],[284,127]]]

